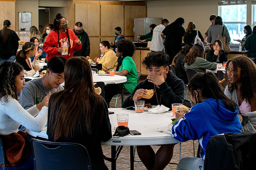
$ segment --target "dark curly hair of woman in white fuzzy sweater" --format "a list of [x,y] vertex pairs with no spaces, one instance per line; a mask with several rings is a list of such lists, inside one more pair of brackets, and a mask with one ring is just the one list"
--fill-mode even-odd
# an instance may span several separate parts
[[8,103],[8,95],[18,99],[15,77],[23,71],[23,67],[16,62],[5,61],[0,64],[0,101]]

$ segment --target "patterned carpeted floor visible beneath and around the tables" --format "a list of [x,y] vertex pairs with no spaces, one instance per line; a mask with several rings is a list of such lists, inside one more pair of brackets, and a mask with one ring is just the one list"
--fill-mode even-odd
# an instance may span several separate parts
[[[143,78],[141,78],[143,79]],[[187,88],[185,87],[185,97],[187,93]],[[126,98],[127,95],[125,95],[124,98]],[[190,100],[190,96],[188,95],[188,99]],[[115,100],[112,99],[110,102],[110,106],[115,106]],[[117,100],[117,107],[121,107],[121,98]],[[155,152],[158,150],[160,146],[152,146]],[[197,152],[197,147],[198,147],[198,142],[195,141],[195,152]],[[111,156],[111,146],[102,146],[102,150],[105,156],[110,157]],[[174,146],[174,151],[173,151],[173,157],[171,160],[171,163],[179,163],[179,154],[180,154],[180,144],[176,144]],[[196,154],[196,153],[195,153]],[[193,157],[193,142],[187,141],[181,143],[181,158],[184,157]],[[135,152],[135,160],[138,160],[138,154],[137,151]],[[105,160],[106,165],[108,166],[109,169],[111,169],[111,162]],[[168,164],[164,169],[165,170],[174,170],[176,169],[177,165],[174,164]],[[116,161],[116,169],[117,170],[129,170],[130,169],[130,147],[129,146],[124,146],[122,149],[121,153],[119,154],[119,157]],[[142,162],[134,162],[134,169],[135,170],[145,170],[145,166],[143,165]]]

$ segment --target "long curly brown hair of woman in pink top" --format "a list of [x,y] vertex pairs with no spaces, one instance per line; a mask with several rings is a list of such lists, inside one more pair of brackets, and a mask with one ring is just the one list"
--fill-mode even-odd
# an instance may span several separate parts
[[[233,63],[233,78],[236,81],[237,80],[237,68],[241,68],[241,79],[240,82],[242,82],[241,88],[240,88],[240,96],[242,99],[245,99],[250,102],[253,95],[256,93],[256,65],[253,63],[251,59],[245,56],[238,56],[234,57],[230,60],[228,60],[228,63],[226,65],[226,71],[225,71],[225,77],[228,79],[228,65],[229,63]],[[233,92],[235,89],[237,89],[237,84],[228,84],[228,90],[229,92]]]

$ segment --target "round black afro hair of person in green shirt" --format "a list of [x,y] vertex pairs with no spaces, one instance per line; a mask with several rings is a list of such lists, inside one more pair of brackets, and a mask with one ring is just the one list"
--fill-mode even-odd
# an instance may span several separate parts
[[121,39],[116,42],[116,48],[119,53],[123,53],[123,57],[132,57],[135,51],[135,45],[129,39]]

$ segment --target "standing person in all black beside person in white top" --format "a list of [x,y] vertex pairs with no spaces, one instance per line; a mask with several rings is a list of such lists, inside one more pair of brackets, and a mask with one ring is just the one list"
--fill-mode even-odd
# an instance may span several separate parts
[[183,18],[177,18],[172,24],[166,26],[161,33],[164,39],[164,49],[169,55],[169,65],[172,64],[174,56],[181,50],[182,40],[184,41],[185,29],[182,27],[185,23]]

